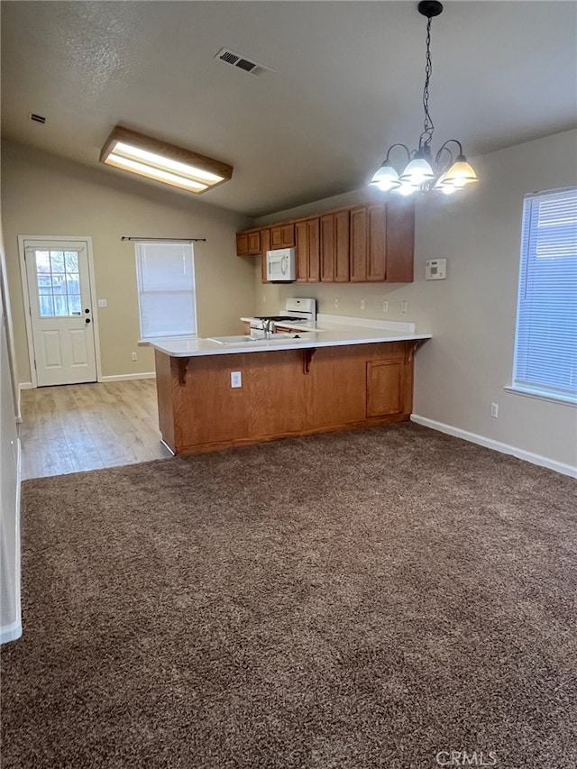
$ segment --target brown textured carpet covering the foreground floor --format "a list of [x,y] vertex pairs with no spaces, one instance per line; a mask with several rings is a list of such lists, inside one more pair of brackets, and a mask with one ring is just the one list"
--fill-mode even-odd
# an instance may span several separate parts
[[574,768],[576,529],[412,424],[26,481],[2,767]]

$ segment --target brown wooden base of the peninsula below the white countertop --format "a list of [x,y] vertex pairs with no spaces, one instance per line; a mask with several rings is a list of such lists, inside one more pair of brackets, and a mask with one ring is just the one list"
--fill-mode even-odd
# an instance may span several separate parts
[[[173,358],[155,351],[160,433],[175,453],[406,421],[415,342]],[[242,388],[231,388],[241,371]]]

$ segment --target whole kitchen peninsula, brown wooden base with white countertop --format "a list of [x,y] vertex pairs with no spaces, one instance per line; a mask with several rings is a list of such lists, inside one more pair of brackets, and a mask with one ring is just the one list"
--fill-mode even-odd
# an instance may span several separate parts
[[162,440],[198,453],[408,420],[414,353],[431,334],[370,323],[319,316],[269,339],[153,341]]

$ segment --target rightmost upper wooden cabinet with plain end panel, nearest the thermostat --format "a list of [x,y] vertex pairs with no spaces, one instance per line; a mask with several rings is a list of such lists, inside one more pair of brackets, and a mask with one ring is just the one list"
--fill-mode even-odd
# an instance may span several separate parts
[[413,280],[415,208],[401,203],[351,209],[352,282],[410,283]]

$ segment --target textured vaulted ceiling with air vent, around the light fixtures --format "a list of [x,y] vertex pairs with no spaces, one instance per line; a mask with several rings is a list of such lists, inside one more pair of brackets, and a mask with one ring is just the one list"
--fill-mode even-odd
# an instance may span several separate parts
[[[114,124],[230,163],[233,179],[198,199],[247,215],[360,188],[390,143],[415,146],[422,130],[417,3],[7,0],[1,10],[3,136],[98,166],[111,183],[124,172],[98,155]],[[275,72],[215,60],[223,47]],[[449,0],[432,55],[434,151],[454,137],[471,157],[577,122],[573,2]]]

